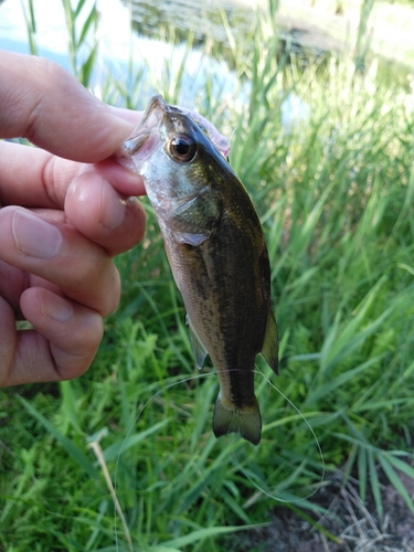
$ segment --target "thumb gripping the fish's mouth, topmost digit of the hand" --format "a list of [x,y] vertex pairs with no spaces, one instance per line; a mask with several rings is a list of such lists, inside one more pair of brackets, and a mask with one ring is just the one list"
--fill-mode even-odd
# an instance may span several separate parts
[[115,153],[134,123],[89,94],[49,60],[0,52],[0,137],[24,137],[74,161]]

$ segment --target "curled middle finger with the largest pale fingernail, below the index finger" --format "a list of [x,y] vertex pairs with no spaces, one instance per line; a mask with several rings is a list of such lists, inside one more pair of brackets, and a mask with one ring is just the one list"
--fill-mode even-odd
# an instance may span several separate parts
[[22,208],[1,209],[0,256],[106,316],[118,305],[119,275],[105,250],[60,215],[51,223]]

